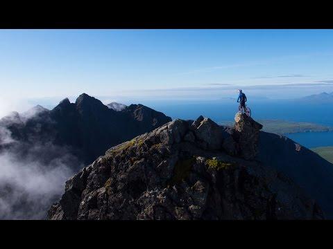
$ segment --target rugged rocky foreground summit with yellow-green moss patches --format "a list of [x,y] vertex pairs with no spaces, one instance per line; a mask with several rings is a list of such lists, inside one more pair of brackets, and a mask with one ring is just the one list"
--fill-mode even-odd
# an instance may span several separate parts
[[243,132],[257,141],[261,127],[239,122],[174,120],[112,147],[67,181],[49,219],[323,219],[289,178],[244,159],[257,149],[244,153]]

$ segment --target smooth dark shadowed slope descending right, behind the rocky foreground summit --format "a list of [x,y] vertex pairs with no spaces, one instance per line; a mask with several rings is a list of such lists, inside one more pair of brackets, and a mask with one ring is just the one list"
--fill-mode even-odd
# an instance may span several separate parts
[[259,154],[256,160],[289,176],[316,199],[333,219],[333,165],[293,140],[273,133],[259,133]]

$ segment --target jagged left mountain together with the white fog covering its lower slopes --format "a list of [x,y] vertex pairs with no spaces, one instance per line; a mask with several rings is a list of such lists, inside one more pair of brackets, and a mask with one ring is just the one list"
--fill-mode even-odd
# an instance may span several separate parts
[[83,165],[169,120],[136,104],[114,111],[86,94],[51,111],[37,106],[1,118],[0,219],[45,219]]

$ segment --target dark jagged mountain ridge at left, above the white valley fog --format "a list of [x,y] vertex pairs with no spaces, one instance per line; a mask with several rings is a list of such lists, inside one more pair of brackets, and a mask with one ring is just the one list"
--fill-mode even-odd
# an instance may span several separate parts
[[[35,107],[31,112],[35,115],[27,118],[25,114],[24,122],[18,113],[13,113],[0,120],[0,127],[8,129],[20,145],[51,142],[67,147],[85,164],[92,163],[110,147],[171,121],[142,104],[114,111],[85,93],[75,103],[66,98],[51,111]],[[19,151],[24,153],[24,148]]]

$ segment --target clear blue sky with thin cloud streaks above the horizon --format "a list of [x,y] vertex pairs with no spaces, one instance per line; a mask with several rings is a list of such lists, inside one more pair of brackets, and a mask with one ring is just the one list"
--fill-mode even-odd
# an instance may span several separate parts
[[333,30],[0,30],[0,55],[3,100],[333,91]]

